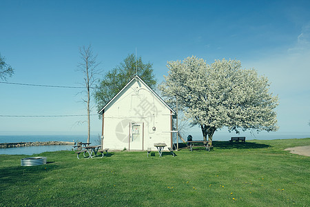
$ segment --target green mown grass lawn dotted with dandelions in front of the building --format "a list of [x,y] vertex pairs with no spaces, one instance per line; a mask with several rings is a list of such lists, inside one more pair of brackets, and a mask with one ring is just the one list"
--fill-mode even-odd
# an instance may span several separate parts
[[48,164],[32,167],[20,166],[26,155],[0,155],[0,206],[309,206],[310,157],[283,150],[306,145],[310,138],[214,141],[210,152],[148,158],[44,152]]

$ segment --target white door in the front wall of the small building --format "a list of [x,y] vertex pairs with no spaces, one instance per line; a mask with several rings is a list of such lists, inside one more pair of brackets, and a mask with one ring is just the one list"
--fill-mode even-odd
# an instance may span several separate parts
[[130,150],[143,150],[143,123],[130,123]]

